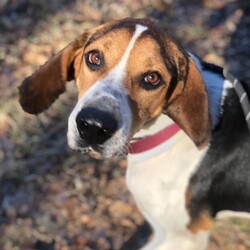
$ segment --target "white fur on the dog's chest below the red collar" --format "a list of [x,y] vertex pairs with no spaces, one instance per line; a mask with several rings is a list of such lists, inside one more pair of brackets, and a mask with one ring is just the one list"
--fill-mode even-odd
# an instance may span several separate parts
[[143,249],[202,250],[208,234],[187,230],[185,193],[204,151],[198,151],[183,131],[173,140],[174,145],[150,159],[128,157],[127,185],[155,234]]

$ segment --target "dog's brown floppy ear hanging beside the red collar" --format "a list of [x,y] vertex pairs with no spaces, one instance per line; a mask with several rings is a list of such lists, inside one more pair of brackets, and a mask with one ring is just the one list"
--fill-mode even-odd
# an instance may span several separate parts
[[176,98],[167,105],[164,113],[186,132],[198,148],[202,148],[208,143],[211,133],[208,96],[195,62],[188,56],[186,61],[187,73],[177,84],[179,87],[173,93]]

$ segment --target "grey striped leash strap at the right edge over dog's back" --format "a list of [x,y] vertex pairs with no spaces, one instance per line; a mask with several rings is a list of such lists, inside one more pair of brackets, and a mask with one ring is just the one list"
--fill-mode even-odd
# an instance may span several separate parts
[[235,92],[239,98],[242,110],[245,115],[246,123],[250,131],[250,103],[245,89],[243,88],[241,82],[229,73],[228,69],[223,70],[223,75],[225,79],[229,80],[233,85]]

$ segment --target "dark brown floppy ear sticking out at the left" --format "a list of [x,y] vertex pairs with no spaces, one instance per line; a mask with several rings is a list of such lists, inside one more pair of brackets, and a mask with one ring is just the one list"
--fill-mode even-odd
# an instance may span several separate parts
[[65,83],[76,78],[87,38],[87,32],[78,36],[22,82],[19,101],[26,112],[38,114],[47,109],[65,91]]

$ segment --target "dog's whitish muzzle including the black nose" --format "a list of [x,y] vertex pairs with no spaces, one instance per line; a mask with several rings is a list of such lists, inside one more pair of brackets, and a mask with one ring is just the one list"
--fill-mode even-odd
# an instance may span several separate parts
[[110,85],[96,84],[78,100],[68,122],[72,149],[98,153],[102,158],[127,152],[132,124],[128,98],[119,86],[117,90]]

